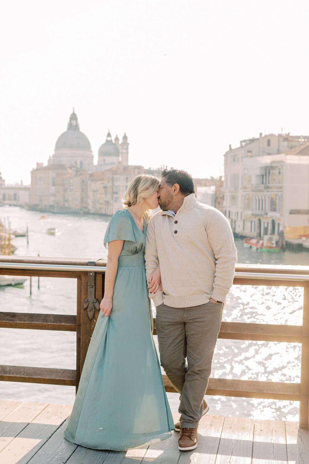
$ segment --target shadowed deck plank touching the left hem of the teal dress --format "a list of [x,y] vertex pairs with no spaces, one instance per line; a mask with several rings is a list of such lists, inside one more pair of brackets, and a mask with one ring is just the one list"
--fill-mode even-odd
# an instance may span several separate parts
[[[76,450],[77,445],[70,443],[63,437],[68,425],[68,419],[57,429],[50,439],[28,461],[29,464],[63,464]],[[27,464],[28,464],[27,463]]]

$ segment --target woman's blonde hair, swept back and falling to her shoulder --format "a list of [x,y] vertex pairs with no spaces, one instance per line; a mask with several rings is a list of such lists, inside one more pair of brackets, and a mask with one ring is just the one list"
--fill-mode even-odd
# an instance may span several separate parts
[[[155,193],[160,185],[160,179],[150,174],[139,174],[130,182],[127,187],[122,204],[125,208],[142,203],[147,198]],[[151,218],[151,210],[144,213],[145,219]]]

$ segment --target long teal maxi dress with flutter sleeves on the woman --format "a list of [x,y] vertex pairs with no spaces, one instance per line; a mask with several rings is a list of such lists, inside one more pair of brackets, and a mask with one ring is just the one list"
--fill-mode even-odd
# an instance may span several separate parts
[[128,210],[107,226],[104,245],[124,240],[118,259],[113,308],[100,311],[64,432],[72,443],[126,451],[171,436],[174,422],[152,338],[145,275],[145,233]]

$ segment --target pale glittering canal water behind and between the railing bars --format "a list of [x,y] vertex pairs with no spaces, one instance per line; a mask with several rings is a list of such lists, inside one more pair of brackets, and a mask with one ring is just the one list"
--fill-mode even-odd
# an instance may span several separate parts
[[[26,238],[15,238],[15,255],[99,259],[107,257],[103,237],[108,219],[101,216],[46,214],[3,206],[0,217],[9,217],[13,229],[29,228]],[[50,227],[59,230],[52,236]],[[244,248],[235,240],[239,263],[309,265],[309,251],[266,253]],[[0,287],[2,311],[76,314],[76,280],[29,278],[20,287]],[[234,285],[227,298],[223,320],[271,324],[302,324],[303,291],[286,287]],[[155,315],[155,309],[153,308]],[[157,337],[154,337],[157,344]],[[158,346],[158,344],[157,344]],[[218,340],[212,377],[276,382],[300,381],[300,345],[297,343]],[[76,333],[44,330],[0,329],[0,364],[75,369]],[[71,404],[75,387],[0,382],[0,399]],[[179,400],[168,393],[177,412]],[[207,396],[210,414],[254,419],[298,419],[298,403]]]

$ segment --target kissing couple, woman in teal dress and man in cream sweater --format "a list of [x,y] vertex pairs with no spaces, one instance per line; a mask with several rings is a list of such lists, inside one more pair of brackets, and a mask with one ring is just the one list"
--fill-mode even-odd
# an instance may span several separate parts
[[[228,220],[194,193],[185,171],[164,169],[161,181],[138,175],[125,209],[107,226],[104,298],[64,432],[72,443],[126,451],[165,440],[175,429],[181,451],[197,446],[236,249]],[[162,211],[151,217],[158,206]],[[149,298],[157,309],[161,365],[181,395],[175,425]]]

